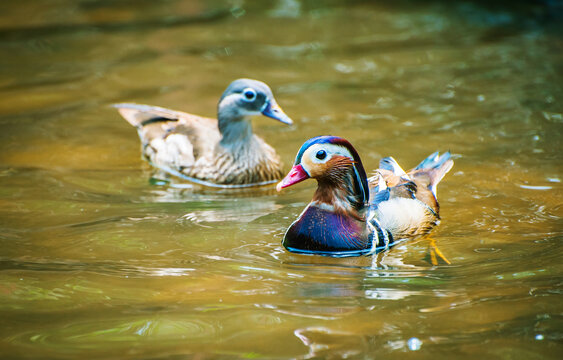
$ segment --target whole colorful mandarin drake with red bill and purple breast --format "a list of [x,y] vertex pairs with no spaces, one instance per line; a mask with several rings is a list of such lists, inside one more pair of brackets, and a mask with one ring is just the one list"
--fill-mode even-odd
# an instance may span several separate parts
[[347,140],[309,139],[277,185],[281,191],[308,178],[318,182],[313,200],[285,233],[283,246],[303,254],[359,256],[425,234],[440,219],[436,186],[452,166],[449,152],[436,152],[409,172],[388,157],[368,179]]

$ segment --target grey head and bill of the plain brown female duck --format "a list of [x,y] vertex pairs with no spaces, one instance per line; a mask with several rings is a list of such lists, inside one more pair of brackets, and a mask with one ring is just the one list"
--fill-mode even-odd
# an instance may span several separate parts
[[252,79],[233,81],[219,100],[219,122],[237,121],[254,115],[264,115],[284,124],[293,124],[277,104],[268,85]]

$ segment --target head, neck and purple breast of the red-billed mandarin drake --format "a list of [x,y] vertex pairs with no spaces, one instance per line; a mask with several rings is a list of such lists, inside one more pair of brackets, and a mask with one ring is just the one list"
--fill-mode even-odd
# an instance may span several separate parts
[[278,191],[313,178],[313,201],[288,228],[283,246],[289,251],[327,256],[358,256],[373,250],[367,226],[368,183],[354,147],[335,136],[307,140]]

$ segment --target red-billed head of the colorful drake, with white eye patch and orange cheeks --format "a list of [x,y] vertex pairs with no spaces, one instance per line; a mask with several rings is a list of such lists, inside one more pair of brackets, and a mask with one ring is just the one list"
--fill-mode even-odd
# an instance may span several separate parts
[[367,176],[358,152],[346,139],[318,136],[299,149],[295,163],[277,190],[313,178],[318,182],[313,201],[347,210],[362,209],[369,201]]

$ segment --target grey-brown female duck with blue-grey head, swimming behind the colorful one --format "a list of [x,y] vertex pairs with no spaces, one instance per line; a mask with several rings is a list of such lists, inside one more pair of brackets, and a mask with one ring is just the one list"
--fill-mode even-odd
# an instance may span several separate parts
[[252,133],[250,117],[291,125],[261,81],[233,81],[219,99],[217,120],[139,104],[114,105],[137,128],[152,165],[208,186],[264,185],[282,178],[276,151]]

